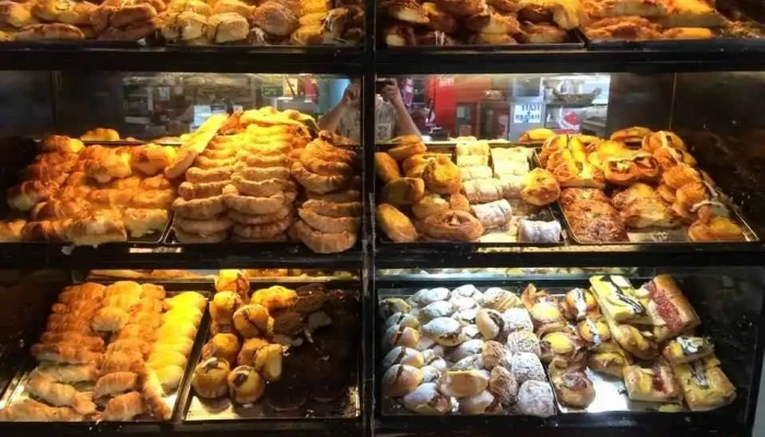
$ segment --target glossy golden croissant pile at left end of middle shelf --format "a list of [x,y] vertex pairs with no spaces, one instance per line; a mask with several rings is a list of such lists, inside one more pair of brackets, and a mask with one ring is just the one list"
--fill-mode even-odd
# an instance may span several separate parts
[[[84,138],[119,135],[97,129]],[[25,218],[0,223],[0,239],[97,246],[160,232],[175,199],[175,187],[162,172],[175,156],[175,149],[151,143],[84,146],[78,139],[48,137],[7,193],[9,205]]]

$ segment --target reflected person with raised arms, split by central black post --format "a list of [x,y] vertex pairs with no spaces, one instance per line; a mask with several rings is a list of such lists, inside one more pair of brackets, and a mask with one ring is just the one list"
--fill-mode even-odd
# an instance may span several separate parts
[[[351,81],[343,98],[319,119],[319,128],[337,132],[361,142],[361,83]],[[388,141],[399,135],[420,135],[407,106],[401,98],[401,91],[395,80],[388,80],[375,98],[375,140]]]

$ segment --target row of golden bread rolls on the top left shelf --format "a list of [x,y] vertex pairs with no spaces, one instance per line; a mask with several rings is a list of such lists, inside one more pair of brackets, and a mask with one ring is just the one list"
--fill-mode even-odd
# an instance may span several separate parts
[[0,42],[145,38],[187,45],[360,44],[364,2],[105,0],[96,5],[72,0],[2,0],[0,26]]

